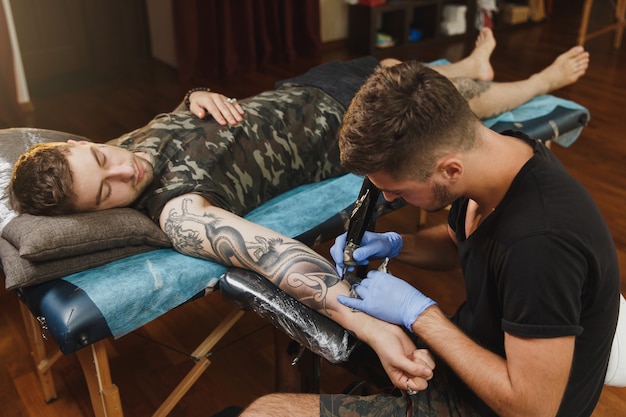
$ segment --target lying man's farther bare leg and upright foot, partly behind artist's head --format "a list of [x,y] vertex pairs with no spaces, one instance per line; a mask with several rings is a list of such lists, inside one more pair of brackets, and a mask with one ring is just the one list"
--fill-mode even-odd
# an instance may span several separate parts
[[[496,47],[496,39],[491,29],[484,28],[476,38],[476,46],[471,54],[458,62],[447,65],[434,65],[431,68],[447,78],[468,78],[470,80],[491,81],[493,80],[493,68],[489,59]],[[384,67],[399,64],[401,61],[387,58],[380,61]]]

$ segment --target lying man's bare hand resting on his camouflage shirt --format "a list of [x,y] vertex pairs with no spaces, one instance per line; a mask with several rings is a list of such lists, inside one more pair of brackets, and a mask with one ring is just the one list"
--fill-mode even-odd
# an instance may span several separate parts
[[236,99],[210,91],[195,91],[189,96],[189,110],[204,119],[209,113],[220,125],[231,126],[243,121],[243,108]]

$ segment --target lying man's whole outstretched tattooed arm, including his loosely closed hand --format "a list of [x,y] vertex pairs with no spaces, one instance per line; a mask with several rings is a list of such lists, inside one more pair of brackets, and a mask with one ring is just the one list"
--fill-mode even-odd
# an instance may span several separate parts
[[306,245],[212,206],[203,197],[187,194],[169,201],[161,228],[174,248],[186,255],[252,270],[307,306],[330,317],[368,343],[398,387],[424,388],[432,366],[414,358],[415,345],[398,326],[337,301],[348,294],[333,265]]

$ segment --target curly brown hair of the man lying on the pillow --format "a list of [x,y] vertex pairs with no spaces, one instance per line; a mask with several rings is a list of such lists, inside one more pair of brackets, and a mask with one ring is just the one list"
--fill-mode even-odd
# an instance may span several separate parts
[[19,157],[9,186],[16,212],[38,216],[77,212],[69,152],[66,143],[40,143]]

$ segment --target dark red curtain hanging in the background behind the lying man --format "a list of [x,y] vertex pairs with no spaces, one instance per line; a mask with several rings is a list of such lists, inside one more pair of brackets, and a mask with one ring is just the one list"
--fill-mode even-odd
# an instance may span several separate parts
[[173,8],[183,81],[255,71],[321,50],[319,0],[185,0]]

